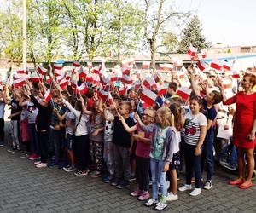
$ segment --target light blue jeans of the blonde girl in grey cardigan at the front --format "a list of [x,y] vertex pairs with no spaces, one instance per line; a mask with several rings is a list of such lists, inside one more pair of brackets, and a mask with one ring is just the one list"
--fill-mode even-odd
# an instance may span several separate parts
[[150,158],[150,169],[152,174],[152,197],[153,199],[158,199],[158,183],[161,186],[161,194],[166,197],[167,187],[166,187],[166,172],[164,170],[164,162],[162,160],[157,160]]

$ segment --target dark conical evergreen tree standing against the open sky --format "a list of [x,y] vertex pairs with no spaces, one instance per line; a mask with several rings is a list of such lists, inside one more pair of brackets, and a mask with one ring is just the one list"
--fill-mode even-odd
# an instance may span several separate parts
[[179,43],[177,53],[186,53],[190,44],[199,50],[211,46],[210,43],[207,43],[206,38],[202,34],[201,22],[197,15],[195,15],[183,29],[183,36]]

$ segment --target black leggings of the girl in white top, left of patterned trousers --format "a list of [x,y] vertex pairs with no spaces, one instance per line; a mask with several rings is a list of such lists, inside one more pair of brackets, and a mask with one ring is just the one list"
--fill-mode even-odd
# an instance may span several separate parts
[[87,170],[90,164],[89,135],[75,136],[74,150],[78,170]]

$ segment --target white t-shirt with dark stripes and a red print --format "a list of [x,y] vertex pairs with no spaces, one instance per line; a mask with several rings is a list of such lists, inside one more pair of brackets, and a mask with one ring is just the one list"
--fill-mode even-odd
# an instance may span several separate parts
[[184,141],[189,145],[196,146],[201,135],[201,126],[207,126],[207,118],[201,112],[194,115],[188,112],[185,116]]

